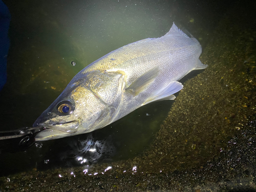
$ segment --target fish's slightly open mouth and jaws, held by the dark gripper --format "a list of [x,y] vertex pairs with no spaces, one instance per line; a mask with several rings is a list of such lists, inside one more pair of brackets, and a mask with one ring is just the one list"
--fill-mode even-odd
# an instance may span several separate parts
[[34,123],[33,126],[34,125],[43,126],[46,128],[46,130],[40,131],[35,135],[35,141],[47,141],[77,135],[76,132],[78,131],[80,121],[73,120],[68,122],[57,122],[51,124]]

